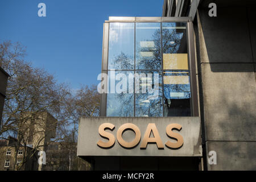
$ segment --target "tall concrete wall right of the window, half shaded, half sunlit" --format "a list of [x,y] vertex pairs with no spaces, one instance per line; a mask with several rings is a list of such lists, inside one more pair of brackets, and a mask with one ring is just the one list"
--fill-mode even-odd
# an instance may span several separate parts
[[[256,169],[256,6],[201,5],[194,26],[209,170]],[[201,110],[202,111],[202,110]]]

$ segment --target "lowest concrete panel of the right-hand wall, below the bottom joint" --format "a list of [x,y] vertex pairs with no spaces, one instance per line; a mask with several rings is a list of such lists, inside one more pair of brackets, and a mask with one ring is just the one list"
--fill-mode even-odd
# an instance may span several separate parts
[[256,170],[256,142],[207,142],[208,154],[209,151],[216,151],[217,155],[217,164],[208,162],[209,171]]

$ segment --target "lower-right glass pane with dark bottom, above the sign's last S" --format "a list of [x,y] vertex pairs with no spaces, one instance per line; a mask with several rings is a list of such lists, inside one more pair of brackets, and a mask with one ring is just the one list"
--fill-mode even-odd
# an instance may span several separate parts
[[164,116],[191,116],[190,83],[188,71],[165,71]]

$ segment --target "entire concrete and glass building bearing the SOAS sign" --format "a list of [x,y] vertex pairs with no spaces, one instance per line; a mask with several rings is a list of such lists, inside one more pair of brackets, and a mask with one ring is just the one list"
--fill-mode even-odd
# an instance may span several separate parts
[[105,21],[101,117],[77,146],[95,170],[256,169],[255,2],[214,2]]

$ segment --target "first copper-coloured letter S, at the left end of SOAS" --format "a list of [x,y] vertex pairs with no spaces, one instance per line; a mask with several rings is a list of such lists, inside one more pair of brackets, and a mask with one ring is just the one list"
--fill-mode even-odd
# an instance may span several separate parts
[[98,133],[101,135],[101,137],[109,140],[109,142],[102,142],[101,140],[99,140],[97,142],[98,146],[103,148],[109,148],[114,145],[115,143],[114,135],[105,131],[105,129],[110,129],[113,131],[114,127],[115,126],[112,123],[103,123],[100,127],[98,127]]

